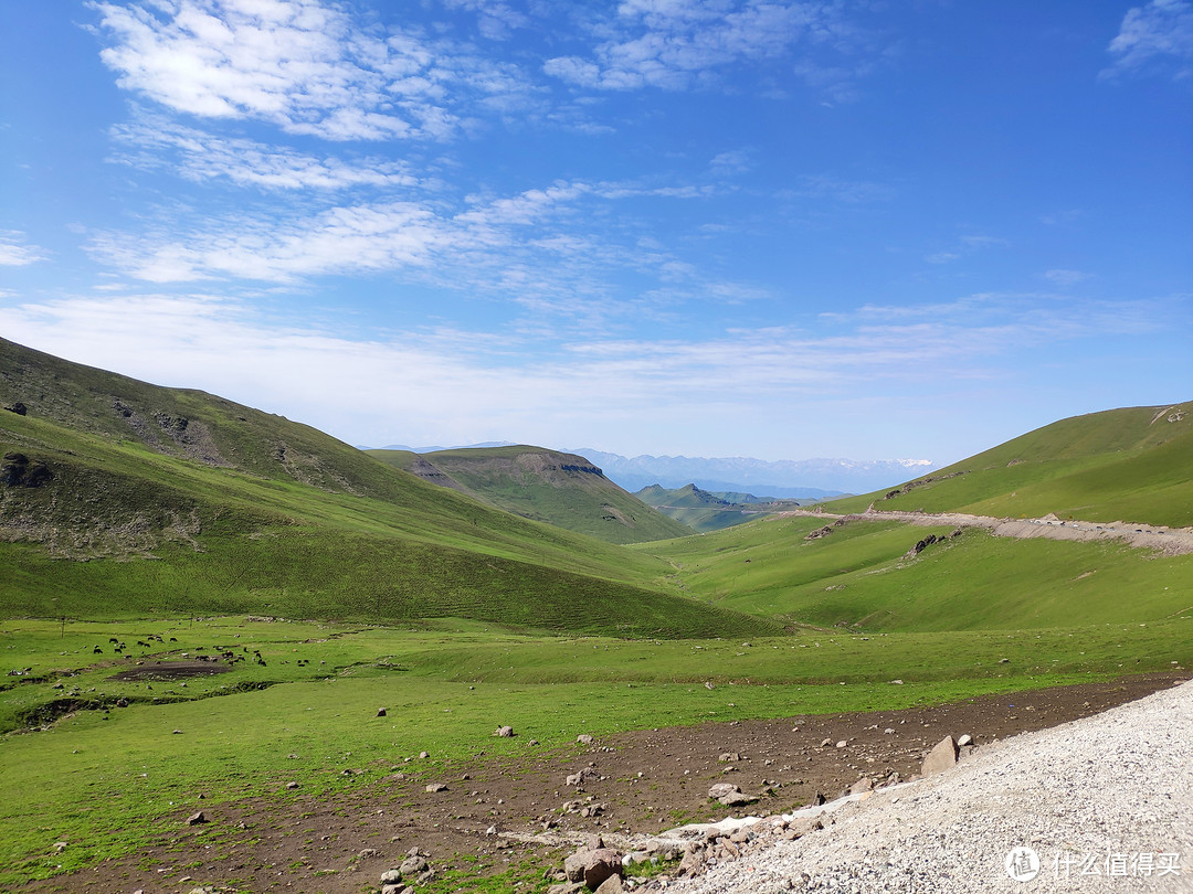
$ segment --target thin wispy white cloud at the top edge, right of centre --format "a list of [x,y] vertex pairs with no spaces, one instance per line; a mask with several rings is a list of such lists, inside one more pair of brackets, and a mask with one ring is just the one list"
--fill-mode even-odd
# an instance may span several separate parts
[[556,56],[544,70],[591,89],[687,89],[715,82],[730,64],[786,58],[793,74],[829,86],[845,69],[814,55],[837,58],[865,43],[842,4],[821,1],[624,0],[593,33],[591,56]]

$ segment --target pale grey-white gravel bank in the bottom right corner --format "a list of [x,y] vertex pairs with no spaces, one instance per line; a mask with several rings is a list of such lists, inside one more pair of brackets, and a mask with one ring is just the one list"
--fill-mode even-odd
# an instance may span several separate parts
[[[668,894],[1193,892],[1193,682],[985,745],[824,822]],[[1018,869],[1038,873],[1015,880],[1024,848],[1037,859]]]

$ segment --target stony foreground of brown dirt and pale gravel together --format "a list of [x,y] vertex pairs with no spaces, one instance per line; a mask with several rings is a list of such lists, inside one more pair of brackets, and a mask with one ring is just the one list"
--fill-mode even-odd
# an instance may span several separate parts
[[[1193,890],[1187,676],[642,731],[513,763],[408,756],[330,796],[285,789],[283,765],[285,797],[179,814],[140,853],[26,889],[396,894],[533,865],[567,890],[568,858],[575,877],[576,855],[607,845],[622,865],[605,894]],[[956,768],[907,784],[966,735]],[[761,821],[709,825],[747,815]],[[1008,855],[1036,877],[1012,880]]]

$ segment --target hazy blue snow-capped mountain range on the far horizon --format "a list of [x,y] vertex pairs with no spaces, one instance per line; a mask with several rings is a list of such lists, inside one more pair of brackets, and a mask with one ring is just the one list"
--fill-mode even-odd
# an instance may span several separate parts
[[[466,447],[512,447],[512,441],[486,441]],[[456,447],[408,447],[391,443],[384,449],[434,453]],[[706,491],[750,491],[756,499],[820,499],[842,493],[869,493],[895,486],[940,468],[927,459],[798,459],[768,461],[752,457],[623,457],[593,447],[556,448],[575,453],[630,492],[657,484],[675,489],[696,484]]]

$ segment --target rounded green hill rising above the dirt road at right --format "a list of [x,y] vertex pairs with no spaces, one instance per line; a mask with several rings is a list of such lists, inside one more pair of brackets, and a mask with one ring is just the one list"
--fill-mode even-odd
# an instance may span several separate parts
[[833,511],[962,511],[1193,524],[1193,403],[1062,420],[886,493]]

